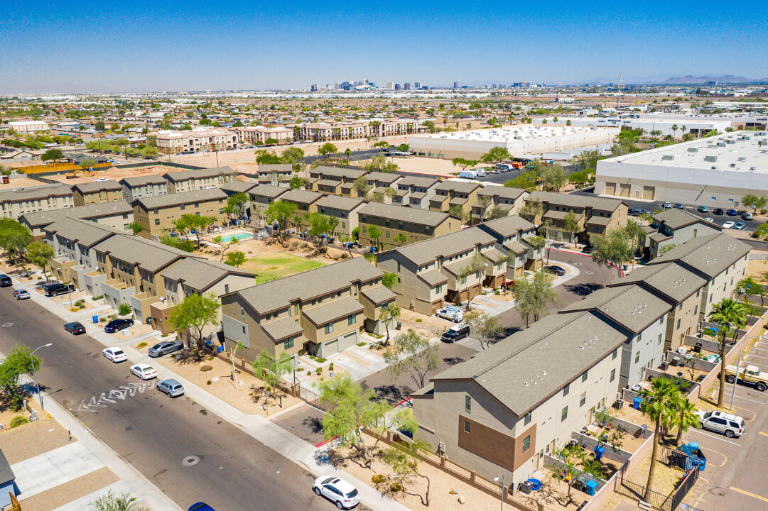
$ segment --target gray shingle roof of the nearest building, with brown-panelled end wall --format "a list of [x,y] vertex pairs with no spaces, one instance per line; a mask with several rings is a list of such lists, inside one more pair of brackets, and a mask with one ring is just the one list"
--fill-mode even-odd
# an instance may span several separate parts
[[472,380],[521,417],[626,339],[592,312],[549,315],[431,380]]

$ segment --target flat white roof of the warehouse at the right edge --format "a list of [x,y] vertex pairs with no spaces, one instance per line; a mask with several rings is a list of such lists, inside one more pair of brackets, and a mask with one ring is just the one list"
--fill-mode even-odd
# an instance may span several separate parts
[[734,131],[601,162],[768,173],[768,133]]

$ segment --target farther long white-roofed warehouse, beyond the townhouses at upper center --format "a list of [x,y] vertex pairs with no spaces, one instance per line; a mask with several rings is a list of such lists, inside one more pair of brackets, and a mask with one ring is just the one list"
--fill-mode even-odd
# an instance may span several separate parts
[[458,131],[408,137],[409,150],[422,156],[479,160],[493,147],[506,147],[513,156],[541,154],[611,143],[618,128],[521,124],[494,130]]

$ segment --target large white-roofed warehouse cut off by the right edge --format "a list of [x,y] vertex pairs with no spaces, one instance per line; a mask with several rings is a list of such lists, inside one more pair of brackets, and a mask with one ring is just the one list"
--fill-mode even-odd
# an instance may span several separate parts
[[737,208],[768,196],[768,133],[735,131],[598,161],[594,193]]

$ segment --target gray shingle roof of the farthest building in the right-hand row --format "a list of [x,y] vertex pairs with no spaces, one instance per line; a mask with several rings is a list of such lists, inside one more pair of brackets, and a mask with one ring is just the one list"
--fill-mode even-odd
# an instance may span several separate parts
[[750,252],[750,246],[726,232],[698,236],[651,259],[649,265],[680,261],[712,279]]

